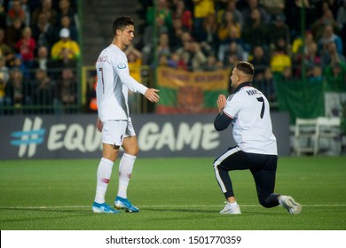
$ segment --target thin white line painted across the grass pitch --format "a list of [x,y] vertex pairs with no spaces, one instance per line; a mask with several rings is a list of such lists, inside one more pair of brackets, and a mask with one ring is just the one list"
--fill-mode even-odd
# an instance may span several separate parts
[[[170,208],[177,208],[177,207],[220,207],[223,205],[138,205],[138,207],[170,207]],[[241,205],[241,207],[254,207],[254,206],[260,206],[262,205]],[[312,204],[312,205],[302,205],[307,207],[319,207],[319,206],[346,206],[346,204]],[[0,209],[47,209],[47,208],[88,208],[91,207],[91,205],[2,205],[0,206]]]

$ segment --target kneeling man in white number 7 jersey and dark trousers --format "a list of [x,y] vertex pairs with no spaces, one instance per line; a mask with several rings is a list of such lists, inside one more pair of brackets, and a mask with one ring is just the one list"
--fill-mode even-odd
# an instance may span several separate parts
[[237,214],[240,206],[234,198],[229,171],[249,169],[256,183],[259,203],[264,207],[283,205],[289,213],[298,214],[302,206],[289,196],[274,193],[278,163],[276,138],[271,130],[269,103],[263,93],[251,86],[255,68],[240,61],[231,75],[234,94],[217,99],[219,114],[214,121],[217,131],[232,123],[233,138],[237,143],[214,161],[216,181],[227,204],[220,213]]

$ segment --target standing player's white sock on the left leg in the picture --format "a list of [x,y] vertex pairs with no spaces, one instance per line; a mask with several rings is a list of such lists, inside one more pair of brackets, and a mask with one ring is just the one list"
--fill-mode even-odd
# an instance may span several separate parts
[[111,178],[113,161],[102,158],[98,164],[95,202],[104,203],[109,179]]

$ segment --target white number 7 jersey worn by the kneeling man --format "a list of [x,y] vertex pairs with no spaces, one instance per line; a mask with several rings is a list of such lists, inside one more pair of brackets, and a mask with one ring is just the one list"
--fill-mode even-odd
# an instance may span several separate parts
[[233,138],[240,150],[278,155],[269,103],[260,90],[243,86],[228,97],[224,113],[232,118]]

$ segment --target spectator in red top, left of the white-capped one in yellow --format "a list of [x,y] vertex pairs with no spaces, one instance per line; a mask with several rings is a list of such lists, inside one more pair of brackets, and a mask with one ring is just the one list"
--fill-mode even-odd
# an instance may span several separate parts
[[31,36],[31,28],[24,27],[22,38],[16,43],[15,48],[20,52],[24,66],[31,67],[35,58],[35,39]]

